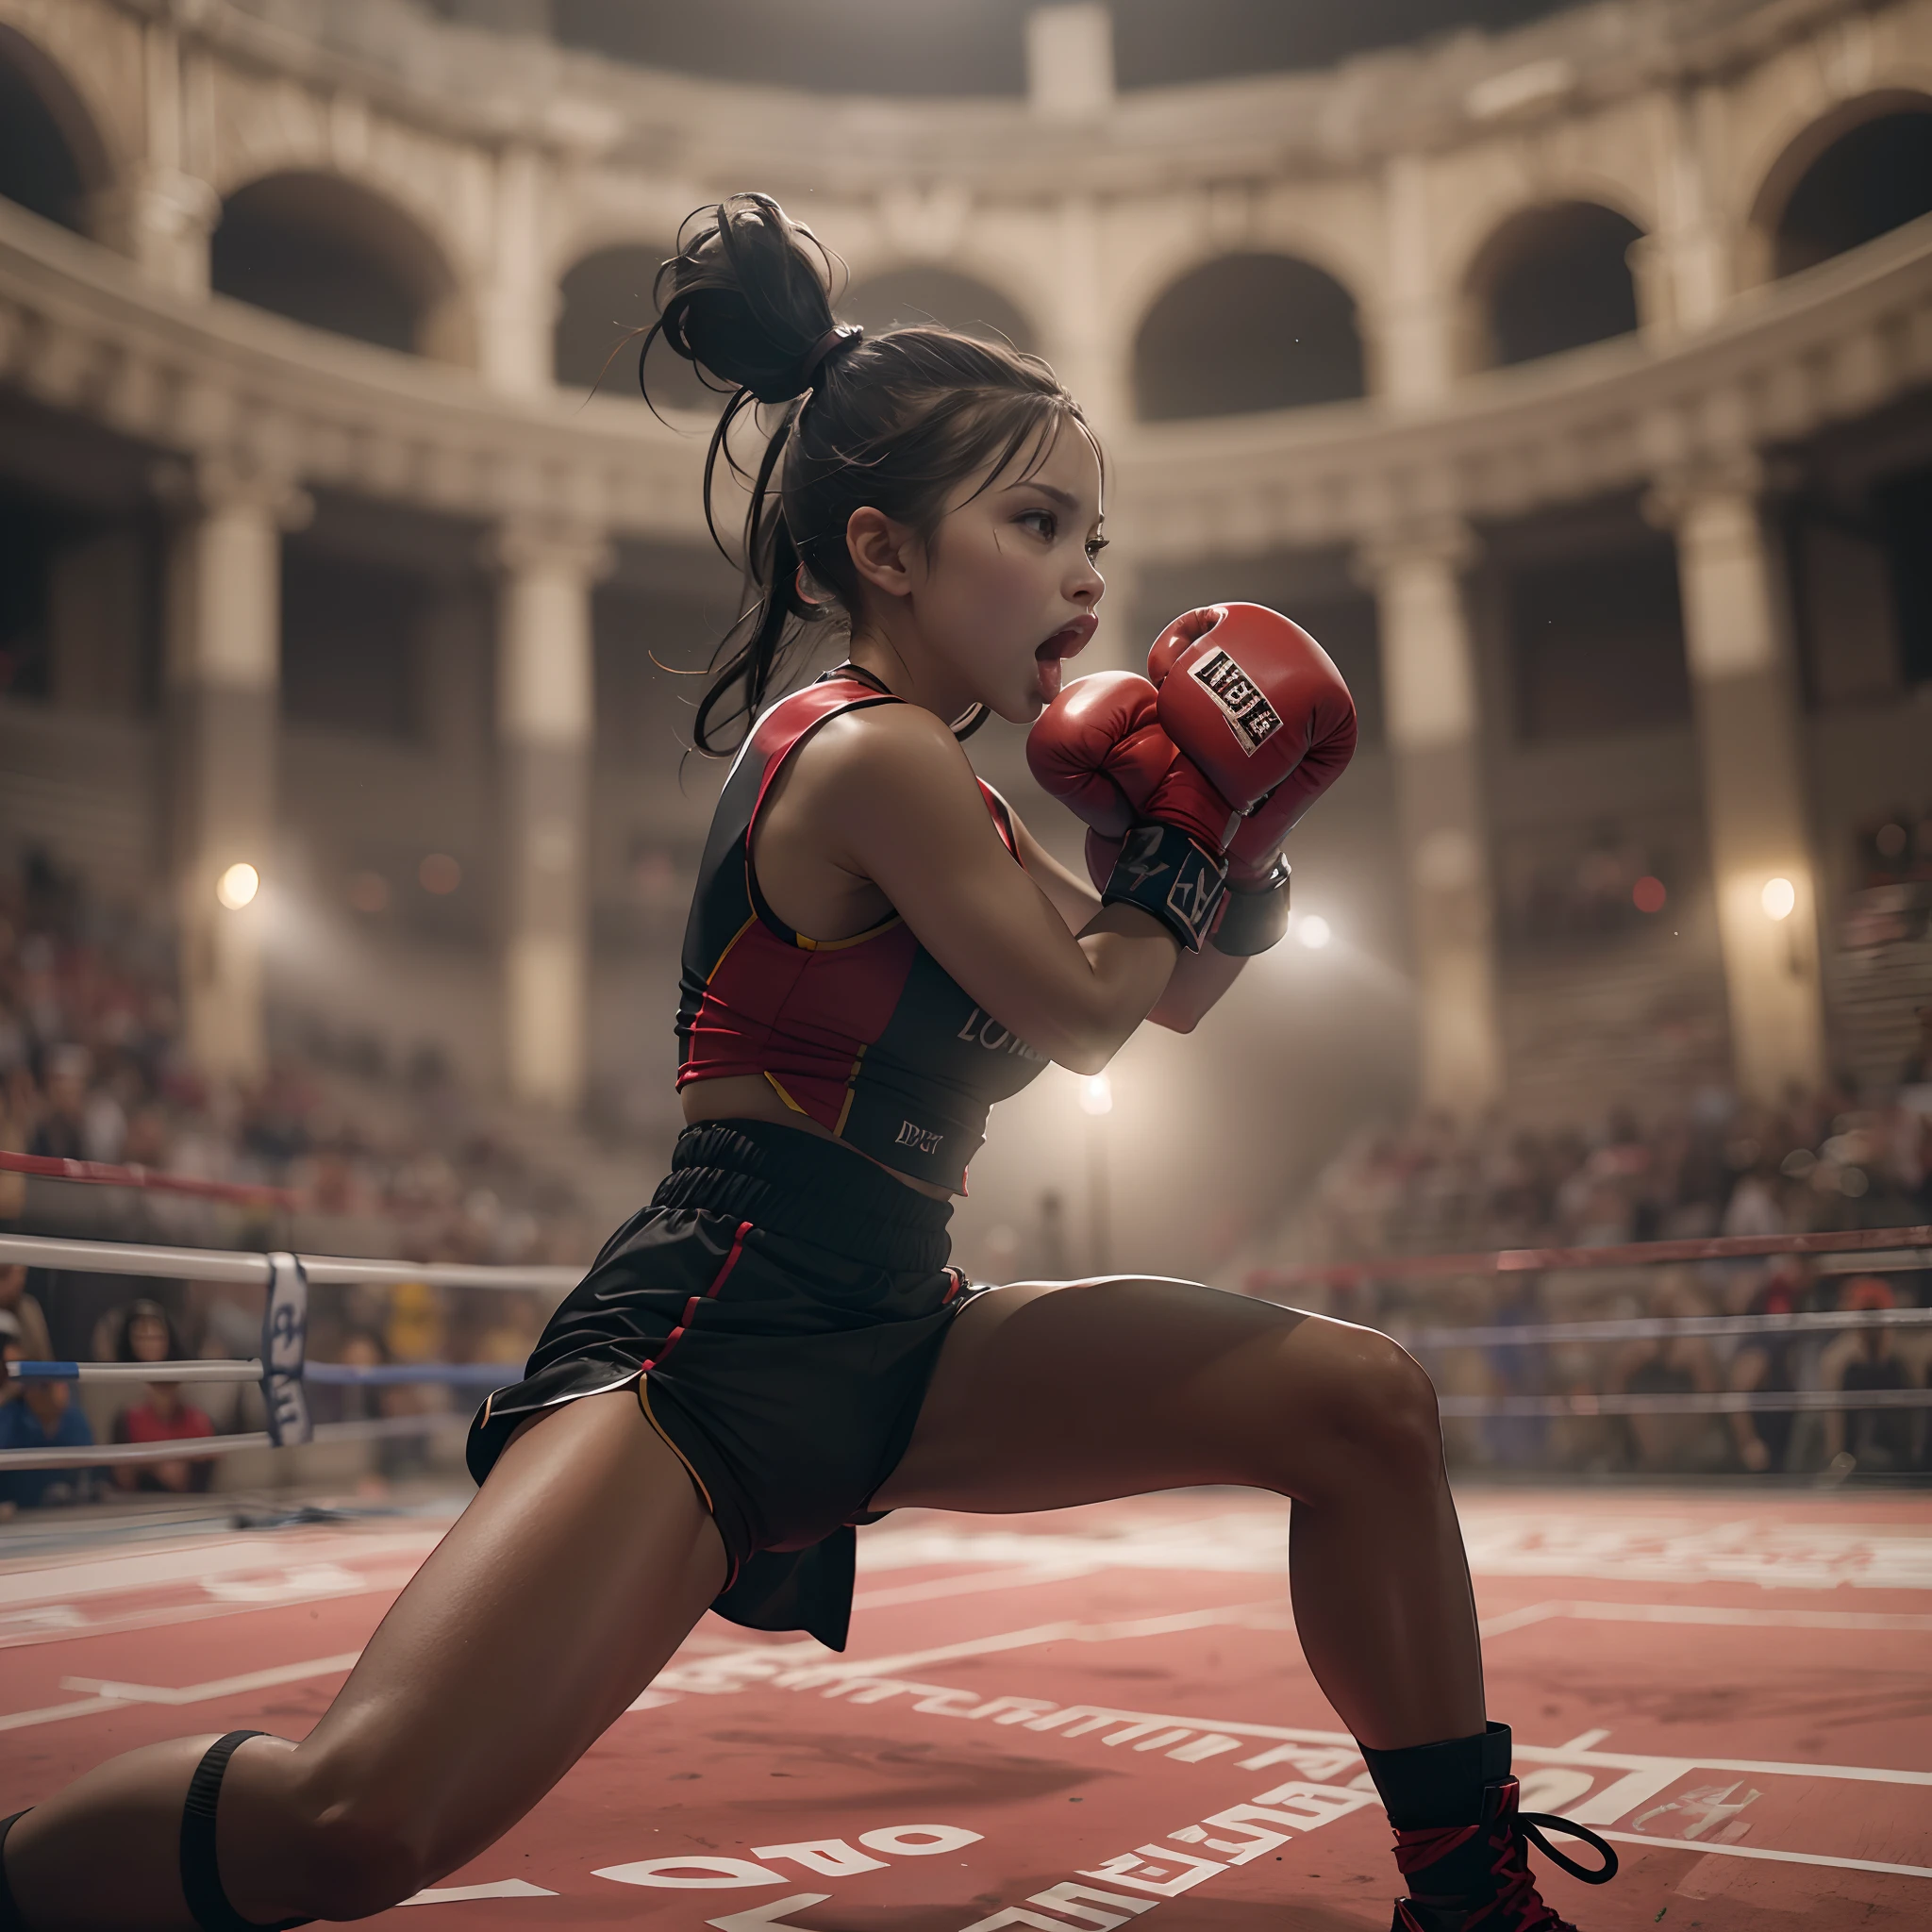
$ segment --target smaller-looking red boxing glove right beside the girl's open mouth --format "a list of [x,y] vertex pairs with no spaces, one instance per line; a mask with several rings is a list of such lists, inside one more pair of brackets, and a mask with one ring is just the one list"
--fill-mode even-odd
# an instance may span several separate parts
[[1103,838],[1153,819],[1219,854],[1236,827],[1235,808],[1175,750],[1157,709],[1153,686],[1130,670],[1078,678],[1039,713],[1026,763]]

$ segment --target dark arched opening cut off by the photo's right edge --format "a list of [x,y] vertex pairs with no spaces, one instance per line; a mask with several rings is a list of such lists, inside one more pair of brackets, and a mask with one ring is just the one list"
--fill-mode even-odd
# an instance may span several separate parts
[[1812,269],[1920,214],[1932,214],[1932,95],[1861,95],[1772,162],[1752,201],[1748,278]]

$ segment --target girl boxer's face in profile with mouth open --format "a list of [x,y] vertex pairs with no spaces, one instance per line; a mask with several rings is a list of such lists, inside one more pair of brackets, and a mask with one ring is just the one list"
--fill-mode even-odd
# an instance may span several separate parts
[[[1030,462],[1024,450],[983,489],[980,477],[960,485],[929,554],[914,545],[906,558],[908,614],[933,672],[920,696],[947,715],[983,703],[1032,723],[1097,624],[1107,587],[1094,568],[1105,547],[1099,458],[1076,423],[1063,423],[1026,475]],[[927,665],[918,668],[925,684]]]

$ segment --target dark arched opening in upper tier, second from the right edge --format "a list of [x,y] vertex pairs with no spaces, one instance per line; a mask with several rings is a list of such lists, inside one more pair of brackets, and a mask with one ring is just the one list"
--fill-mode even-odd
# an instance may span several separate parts
[[1497,369],[1631,334],[1642,230],[1602,201],[1546,201],[1493,228],[1463,280],[1459,361]]

